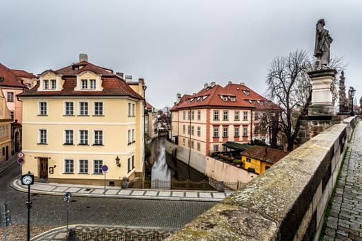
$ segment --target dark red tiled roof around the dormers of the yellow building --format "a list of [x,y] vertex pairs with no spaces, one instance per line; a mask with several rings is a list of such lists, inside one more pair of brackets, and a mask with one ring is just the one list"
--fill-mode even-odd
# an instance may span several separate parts
[[[79,66],[79,70],[73,70],[73,66]],[[51,70],[55,74],[61,74],[62,79],[65,80],[63,83],[63,90],[47,90],[38,91],[39,83],[34,86],[31,90],[21,93],[18,96],[130,96],[133,98],[143,99],[141,95],[134,92],[132,88],[123,81],[119,76],[113,73],[112,70],[105,69],[88,63],[87,61],[81,61],[79,63],[63,67],[59,70]],[[92,71],[96,74],[101,74],[103,90],[74,90],[77,86],[77,76],[83,71]],[[43,72],[44,73],[44,72]]]

